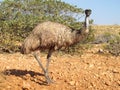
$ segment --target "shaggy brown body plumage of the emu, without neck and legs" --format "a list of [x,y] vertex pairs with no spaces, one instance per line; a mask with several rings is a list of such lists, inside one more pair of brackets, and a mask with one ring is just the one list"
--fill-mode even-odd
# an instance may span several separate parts
[[76,44],[83,39],[83,36],[85,34],[81,34],[79,30],[72,30],[65,25],[48,21],[35,27],[25,39],[22,51],[28,54],[36,49],[49,49],[50,47],[56,50]]

